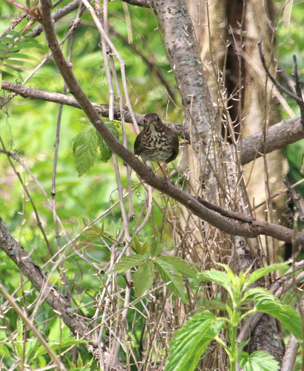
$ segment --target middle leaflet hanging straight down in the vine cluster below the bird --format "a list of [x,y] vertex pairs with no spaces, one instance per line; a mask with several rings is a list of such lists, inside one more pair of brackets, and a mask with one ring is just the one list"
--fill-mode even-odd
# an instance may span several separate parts
[[133,278],[137,298],[152,289],[154,278],[155,269],[151,260],[147,260],[138,266]]

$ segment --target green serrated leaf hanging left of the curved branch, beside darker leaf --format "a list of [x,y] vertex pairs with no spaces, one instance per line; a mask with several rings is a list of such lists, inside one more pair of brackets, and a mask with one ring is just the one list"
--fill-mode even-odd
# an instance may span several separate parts
[[79,177],[94,164],[97,156],[97,135],[93,127],[84,128],[73,141],[73,153]]

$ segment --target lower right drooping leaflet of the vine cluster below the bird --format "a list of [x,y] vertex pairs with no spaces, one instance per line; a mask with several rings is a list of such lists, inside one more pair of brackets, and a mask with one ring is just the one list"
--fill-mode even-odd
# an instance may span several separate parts
[[161,275],[163,282],[170,282],[168,284],[168,289],[176,296],[181,298],[184,303],[188,303],[188,300],[185,296],[185,285],[182,282],[182,276],[178,273],[172,272],[172,266],[159,258],[160,257],[156,258],[154,263]]

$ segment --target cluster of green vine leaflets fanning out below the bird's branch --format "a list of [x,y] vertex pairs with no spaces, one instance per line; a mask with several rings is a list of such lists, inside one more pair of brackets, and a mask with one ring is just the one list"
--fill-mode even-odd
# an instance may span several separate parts
[[[149,240],[141,243],[135,233],[132,233],[132,236],[133,242],[130,246],[136,254],[122,257],[108,274],[123,273],[138,266],[134,273],[133,284],[135,295],[139,297],[152,289],[156,274],[159,273],[163,283],[168,285],[168,289],[187,303],[182,275],[195,278],[196,273],[191,266],[176,256],[155,256],[155,252],[161,251],[161,249],[152,245],[153,249],[151,250]],[[149,257],[143,255],[146,252],[150,253]]]

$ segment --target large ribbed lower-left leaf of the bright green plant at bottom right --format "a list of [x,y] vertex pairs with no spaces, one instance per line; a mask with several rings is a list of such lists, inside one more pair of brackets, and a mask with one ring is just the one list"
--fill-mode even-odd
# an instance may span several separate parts
[[169,345],[165,371],[193,371],[208,344],[222,329],[224,321],[212,313],[199,313],[175,332]]

